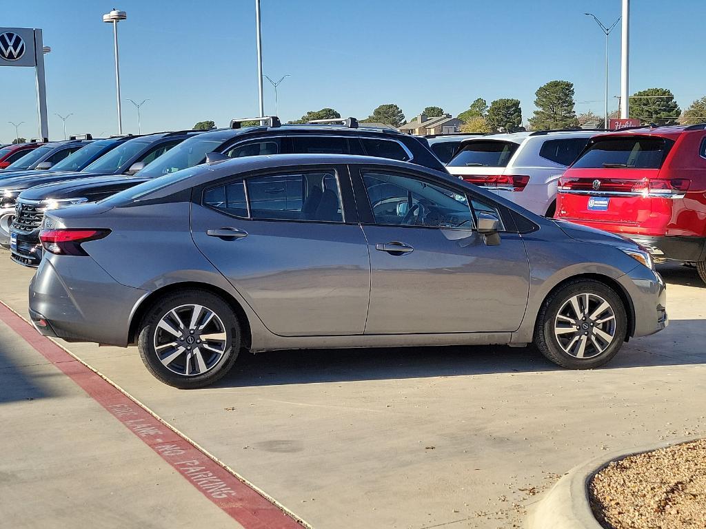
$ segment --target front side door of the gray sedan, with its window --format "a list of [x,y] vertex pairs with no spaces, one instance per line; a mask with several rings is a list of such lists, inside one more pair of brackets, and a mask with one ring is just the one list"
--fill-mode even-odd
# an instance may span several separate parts
[[366,334],[520,327],[530,276],[522,238],[507,231],[500,244],[486,245],[475,231],[478,212],[502,218],[493,202],[372,168],[360,171],[357,193],[372,214],[363,226],[371,260]]

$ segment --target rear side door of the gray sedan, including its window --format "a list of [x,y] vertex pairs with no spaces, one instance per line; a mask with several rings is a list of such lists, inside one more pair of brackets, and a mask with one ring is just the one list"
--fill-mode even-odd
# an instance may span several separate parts
[[270,331],[363,334],[370,261],[347,167],[239,175],[195,193],[193,240]]

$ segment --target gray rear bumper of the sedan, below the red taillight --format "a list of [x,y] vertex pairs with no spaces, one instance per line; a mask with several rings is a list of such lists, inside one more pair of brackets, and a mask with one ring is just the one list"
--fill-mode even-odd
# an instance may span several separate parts
[[133,308],[147,294],[119,284],[91,257],[50,255],[30,281],[30,318],[45,336],[124,347]]

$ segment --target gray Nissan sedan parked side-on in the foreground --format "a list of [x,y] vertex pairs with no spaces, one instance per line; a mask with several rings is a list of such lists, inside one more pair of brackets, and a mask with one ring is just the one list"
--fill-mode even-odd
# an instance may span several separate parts
[[534,344],[603,365],[667,325],[650,254],[440,171],[373,157],[211,162],[47,212],[30,317],[138,344],[180,388],[241,348]]

